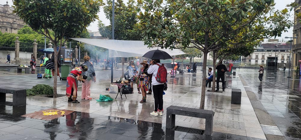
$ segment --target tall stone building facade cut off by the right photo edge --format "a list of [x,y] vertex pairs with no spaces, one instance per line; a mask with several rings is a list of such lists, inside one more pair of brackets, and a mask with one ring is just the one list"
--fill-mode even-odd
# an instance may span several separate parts
[[[298,3],[299,5],[297,7],[295,7],[295,12],[294,15],[296,15],[297,13],[300,13],[300,8],[301,8],[301,0],[295,0],[296,3]],[[301,60],[301,24],[299,19],[296,19],[296,16],[294,16],[294,27],[293,27],[293,37],[297,37],[293,39],[293,47],[292,47],[292,68],[296,69],[297,67],[299,67],[299,61]]]

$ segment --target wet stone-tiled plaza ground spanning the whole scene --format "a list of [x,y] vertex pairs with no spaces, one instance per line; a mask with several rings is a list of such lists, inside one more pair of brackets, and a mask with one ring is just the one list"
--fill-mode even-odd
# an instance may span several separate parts
[[[175,78],[168,76],[168,90],[163,95],[163,109],[168,106],[199,108],[201,75],[184,73]],[[0,69],[0,85],[31,88],[43,83],[53,85],[53,79],[36,79],[36,74],[16,75],[11,69]],[[264,82],[259,83],[254,69],[237,69],[236,76],[226,76],[223,93],[206,92],[205,109],[215,112],[212,136],[166,130],[166,113],[151,116],[154,109],[152,95],[146,103],[139,103],[142,95],[120,96],[112,102],[97,102],[99,94],[108,93],[110,70],[96,68],[97,82],[91,85],[92,100],[68,103],[67,97],[48,98],[31,96],[26,106],[0,104],[0,139],[300,139],[301,138],[301,80],[296,75],[288,79],[288,72],[265,70]],[[114,80],[120,79],[121,70],[114,70]],[[134,85],[136,87],[136,85]],[[241,104],[231,104],[231,88],[242,91]],[[58,94],[65,94],[66,81],[57,82]],[[207,88],[211,89],[211,88]],[[7,101],[12,96],[7,94]],[[75,111],[70,115],[44,121],[21,115],[48,108]],[[71,123],[70,123],[71,122]],[[176,115],[176,126],[205,129],[205,119]]]

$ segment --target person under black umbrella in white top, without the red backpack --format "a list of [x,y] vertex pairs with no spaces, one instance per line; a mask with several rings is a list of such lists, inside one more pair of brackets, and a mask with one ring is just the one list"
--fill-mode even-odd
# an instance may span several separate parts
[[[159,66],[162,66],[162,63],[160,63],[159,59],[153,59],[151,60],[151,65],[149,66],[147,73],[148,74],[153,74],[152,76],[152,90],[153,90],[153,97],[154,97],[154,112],[151,112],[150,114],[153,116],[162,116],[162,110],[163,110],[163,88],[164,88],[164,83],[160,83],[156,80],[157,73]],[[167,75],[167,73],[166,73]],[[158,111],[159,109],[159,111]]]

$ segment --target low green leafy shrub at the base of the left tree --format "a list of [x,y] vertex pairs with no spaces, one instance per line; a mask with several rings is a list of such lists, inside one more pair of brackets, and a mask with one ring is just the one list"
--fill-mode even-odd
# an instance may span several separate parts
[[50,85],[38,84],[31,89],[26,90],[26,96],[35,96],[43,94],[53,94],[53,88]]

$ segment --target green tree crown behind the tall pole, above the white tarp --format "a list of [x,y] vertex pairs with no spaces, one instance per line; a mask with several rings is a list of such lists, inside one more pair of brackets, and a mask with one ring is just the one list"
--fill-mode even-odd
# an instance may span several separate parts
[[[102,37],[112,39],[112,0],[107,1],[104,6],[106,18],[110,20],[110,25],[98,22],[99,33]],[[140,11],[135,0],[129,0],[126,4],[122,0],[115,1],[115,22],[114,39],[116,40],[141,40],[141,31],[137,14]]]

